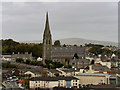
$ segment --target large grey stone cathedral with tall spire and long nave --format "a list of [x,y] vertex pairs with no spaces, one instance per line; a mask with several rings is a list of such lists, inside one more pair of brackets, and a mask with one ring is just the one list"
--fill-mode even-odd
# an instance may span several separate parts
[[52,35],[50,32],[49,18],[47,12],[43,34],[43,64],[45,64],[46,59],[65,63],[65,59],[72,59],[75,53],[77,53],[79,58],[84,58],[85,48],[81,46],[52,46]]

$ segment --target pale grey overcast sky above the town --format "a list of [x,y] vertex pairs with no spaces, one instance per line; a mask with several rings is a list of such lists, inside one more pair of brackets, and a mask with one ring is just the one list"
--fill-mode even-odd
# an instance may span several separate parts
[[53,40],[118,40],[117,2],[3,3],[2,38],[42,40],[47,11]]

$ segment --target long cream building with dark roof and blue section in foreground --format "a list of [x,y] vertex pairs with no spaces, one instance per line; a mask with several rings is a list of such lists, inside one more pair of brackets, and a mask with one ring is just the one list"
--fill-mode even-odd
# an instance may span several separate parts
[[78,88],[79,79],[75,77],[35,77],[29,80],[29,86],[31,89],[53,87]]

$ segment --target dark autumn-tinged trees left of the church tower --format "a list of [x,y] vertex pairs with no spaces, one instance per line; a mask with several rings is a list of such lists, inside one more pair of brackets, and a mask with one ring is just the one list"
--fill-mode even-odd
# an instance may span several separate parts
[[42,57],[42,44],[25,44],[12,39],[2,40],[2,54],[31,53],[34,57]]

